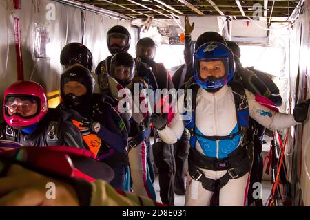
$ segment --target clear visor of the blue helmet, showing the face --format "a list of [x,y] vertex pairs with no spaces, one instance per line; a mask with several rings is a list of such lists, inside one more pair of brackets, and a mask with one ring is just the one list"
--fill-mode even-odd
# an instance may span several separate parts
[[229,74],[228,58],[205,58],[197,61],[196,71],[201,81],[221,80]]

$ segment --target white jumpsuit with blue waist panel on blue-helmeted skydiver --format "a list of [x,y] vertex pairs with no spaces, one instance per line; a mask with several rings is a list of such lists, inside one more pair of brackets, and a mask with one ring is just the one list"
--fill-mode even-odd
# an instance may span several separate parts
[[[277,113],[263,107],[255,100],[254,94],[245,89],[247,101],[249,104],[249,116],[269,129],[283,129],[298,124],[293,115]],[[178,107],[182,106],[184,96],[178,100]],[[176,113],[172,122],[165,129],[158,131],[161,139],[168,144],[175,143],[182,135],[185,128],[183,116]],[[199,88],[196,96],[196,129],[206,136],[226,136],[233,133],[238,127],[236,117],[236,107],[234,102],[233,91],[228,85],[225,85],[219,91],[211,93],[205,89]],[[239,146],[240,142],[234,146],[224,146],[223,144],[214,144],[200,146],[201,142],[196,142],[195,148],[198,152],[206,156],[225,158],[227,155]],[[226,170],[200,170],[205,177],[210,179],[219,179]],[[194,181],[187,175],[187,189],[185,196],[186,206],[209,206],[213,192],[205,190],[200,181]],[[238,179],[231,179],[220,190],[220,206],[244,206],[247,198],[247,184],[249,173]]]

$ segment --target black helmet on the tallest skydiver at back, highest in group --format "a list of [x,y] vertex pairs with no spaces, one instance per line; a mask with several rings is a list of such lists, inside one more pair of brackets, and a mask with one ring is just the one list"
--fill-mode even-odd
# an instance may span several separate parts
[[[115,47],[112,48],[113,45],[110,45],[110,38],[124,39],[125,45],[123,46],[115,45],[116,48]],[[125,27],[116,25],[107,32],[107,48],[109,49],[112,55],[121,51],[127,52],[129,50],[129,47],[130,47],[130,32],[128,32],[128,30]]]

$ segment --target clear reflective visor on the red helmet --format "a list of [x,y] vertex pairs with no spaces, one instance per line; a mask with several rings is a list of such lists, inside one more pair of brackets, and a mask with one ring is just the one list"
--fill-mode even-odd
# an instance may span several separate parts
[[21,118],[32,118],[39,113],[40,101],[35,96],[6,96],[4,108],[8,117],[16,114]]

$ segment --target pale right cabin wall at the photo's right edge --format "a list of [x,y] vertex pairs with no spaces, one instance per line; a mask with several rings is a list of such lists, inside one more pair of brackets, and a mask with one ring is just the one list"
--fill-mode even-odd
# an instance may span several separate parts
[[[289,32],[291,111],[296,103],[310,98],[309,18],[310,3],[307,1]],[[307,120],[295,128],[289,134],[285,152],[289,179],[296,193],[293,205],[310,206],[310,122]]]

